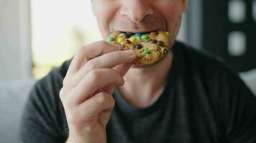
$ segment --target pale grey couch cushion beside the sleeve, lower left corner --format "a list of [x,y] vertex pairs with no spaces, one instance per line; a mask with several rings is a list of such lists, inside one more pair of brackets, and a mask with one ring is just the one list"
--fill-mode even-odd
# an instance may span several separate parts
[[35,79],[0,82],[0,142],[18,142],[22,109]]

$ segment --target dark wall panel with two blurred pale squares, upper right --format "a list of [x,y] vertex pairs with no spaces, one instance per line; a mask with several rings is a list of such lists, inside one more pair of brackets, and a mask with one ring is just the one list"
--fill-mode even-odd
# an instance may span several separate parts
[[237,71],[256,68],[254,0],[203,1],[203,47]]

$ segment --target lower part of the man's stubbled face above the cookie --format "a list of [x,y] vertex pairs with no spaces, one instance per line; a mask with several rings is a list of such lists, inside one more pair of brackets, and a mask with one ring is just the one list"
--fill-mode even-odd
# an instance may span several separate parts
[[186,0],[92,0],[93,13],[104,39],[111,31],[132,33],[162,29],[170,32],[170,43],[180,27]]

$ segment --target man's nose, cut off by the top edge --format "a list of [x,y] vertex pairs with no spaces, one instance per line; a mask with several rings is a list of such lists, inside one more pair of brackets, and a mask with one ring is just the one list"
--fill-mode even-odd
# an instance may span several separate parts
[[120,14],[139,23],[145,17],[152,15],[153,9],[148,0],[127,0],[124,2]]

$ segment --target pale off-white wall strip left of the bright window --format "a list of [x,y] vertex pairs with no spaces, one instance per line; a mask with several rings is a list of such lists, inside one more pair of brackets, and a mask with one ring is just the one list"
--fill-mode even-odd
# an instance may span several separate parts
[[29,47],[29,0],[0,0],[0,80],[29,77]]

